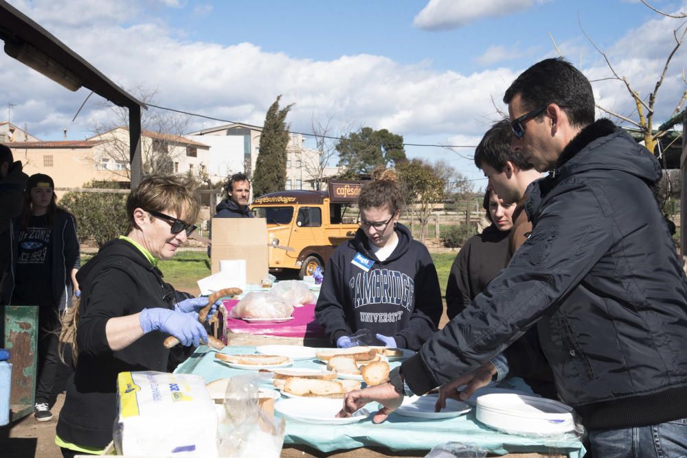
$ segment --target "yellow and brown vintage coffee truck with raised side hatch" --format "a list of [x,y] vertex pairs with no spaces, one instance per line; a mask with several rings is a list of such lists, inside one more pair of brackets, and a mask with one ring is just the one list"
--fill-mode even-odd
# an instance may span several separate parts
[[330,181],[329,191],[280,191],[261,195],[251,209],[267,219],[269,271],[312,275],[339,243],[358,229],[362,183]]

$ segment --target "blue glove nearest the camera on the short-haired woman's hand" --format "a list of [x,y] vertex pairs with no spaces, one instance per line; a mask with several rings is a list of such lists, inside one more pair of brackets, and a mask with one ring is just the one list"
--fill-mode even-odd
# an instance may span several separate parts
[[194,347],[200,345],[201,340],[207,342],[207,332],[198,321],[198,313],[183,313],[169,309],[143,309],[139,317],[144,333],[159,330],[177,337],[183,346]]

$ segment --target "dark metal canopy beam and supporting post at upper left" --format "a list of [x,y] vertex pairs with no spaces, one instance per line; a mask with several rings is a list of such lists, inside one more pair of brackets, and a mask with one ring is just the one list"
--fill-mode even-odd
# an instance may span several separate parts
[[120,86],[111,82],[67,45],[14,8],[0,0],[0,39],[5,47],[30,45],[78,77],[81,86],[129,110],[129,160],[131,162],[131,188],[142,180],[141,160],[141,108],[148,107]]

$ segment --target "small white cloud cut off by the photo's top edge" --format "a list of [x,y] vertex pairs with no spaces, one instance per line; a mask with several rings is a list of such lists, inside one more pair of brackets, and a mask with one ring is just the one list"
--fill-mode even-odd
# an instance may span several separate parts
[[508,16],[527,10],[545,0],[429,0],[415,16],[420,29],[456,29],[487,17]]

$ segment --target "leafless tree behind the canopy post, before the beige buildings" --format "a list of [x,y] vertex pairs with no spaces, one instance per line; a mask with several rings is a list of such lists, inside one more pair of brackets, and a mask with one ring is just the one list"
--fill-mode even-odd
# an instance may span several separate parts
[[[146,104],[152,103],[155,91],[136,88],[130,91]],[[129,167],[128,109],[104,102],[102,108],[108,112],[104,121],[95,121],[91,125],[93,140],[104,141],[99,166],[113,174],[131,180]],[[183,138],[188,128],[186,115],[149,107],[141,113],[141,156],[144,176],[172,174],[174,162],[186,155],[192,155],[193,145]],[[190,149],[189,149],[190,148]],[[203,171],[198,171],[203,180]],[[207,176],[207,173],[205,173]],[[207,178],[207,177],[205,177]]]

